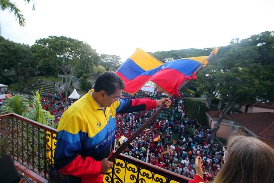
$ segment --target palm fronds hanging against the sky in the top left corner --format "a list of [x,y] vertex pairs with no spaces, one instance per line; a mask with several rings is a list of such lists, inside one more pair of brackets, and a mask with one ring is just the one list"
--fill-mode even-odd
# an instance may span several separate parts
[[[24,0],[26,3],[32,2],[32,9],[35,10],[35,3],[32,0]],[[0,0],[0,9],[5,10],[8,9],[10,13],[14,13],[14,16],[19,21],[20,26],[25,26],[26,20],[24,18],[24,15],[22,15],[22,11],[17,8],[16,4],[11,2],[10,0]],[[1,26],[0,26],[0,33],[1,33]]]

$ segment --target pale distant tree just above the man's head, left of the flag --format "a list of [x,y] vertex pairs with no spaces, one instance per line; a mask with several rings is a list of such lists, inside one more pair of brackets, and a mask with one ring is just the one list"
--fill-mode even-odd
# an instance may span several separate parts
[[106,71],[116,71],[122,62],[118,55],[101,54],[99,64],[102,65]]

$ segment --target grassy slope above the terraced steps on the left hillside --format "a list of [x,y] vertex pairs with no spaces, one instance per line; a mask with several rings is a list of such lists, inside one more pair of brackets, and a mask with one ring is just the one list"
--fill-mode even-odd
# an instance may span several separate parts
[[[43,80],[44,81],[49,81],[49,82],[61,82],[62,81],[62,78],[61,77],[57,77],[55,78],[54,76],[49,76],[49,77],[46,77],[46,76],[35,76],[35,77],[30,77],[27,79],[27,82],[25,83],[25,87],[27,87],[28,85],[32,84],[32,83],[35,83],[35,81],[38,81],[38,80]],[[21,87],[23,87],[23,83],[20,83]],[[11,91],[19,91],[19,84],[18,83],[14,83],[12,85],[9,85],[8,86],[9,90]]]

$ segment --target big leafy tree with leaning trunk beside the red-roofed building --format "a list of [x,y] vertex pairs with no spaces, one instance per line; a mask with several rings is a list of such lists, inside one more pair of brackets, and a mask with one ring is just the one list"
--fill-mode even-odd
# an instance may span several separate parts
[[225,108],[212,130],[211,141],[220,128],[223,116],[231,108],[243,102],[255,101],[266,92],[265,86],[270,82],[264,77],[267,71],[260,63],[255,62],[257,57],[257,46],[232,47],[220,60],[221,68],[216,71],[216,91],[227,97],[224,98]]

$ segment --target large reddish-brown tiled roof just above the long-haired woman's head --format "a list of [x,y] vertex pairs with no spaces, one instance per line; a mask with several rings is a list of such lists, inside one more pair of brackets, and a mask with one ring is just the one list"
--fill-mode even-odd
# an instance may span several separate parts
[[228,114],[245,128],[256,134],[258,137],[271,138],[274,140],[274,113],[243,113]]

